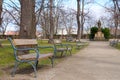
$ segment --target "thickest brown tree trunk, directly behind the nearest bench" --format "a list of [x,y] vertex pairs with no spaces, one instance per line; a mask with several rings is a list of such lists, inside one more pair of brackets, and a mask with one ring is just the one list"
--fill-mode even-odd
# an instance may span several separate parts
[[20,38],[36,38],[35,0],[20,0]]

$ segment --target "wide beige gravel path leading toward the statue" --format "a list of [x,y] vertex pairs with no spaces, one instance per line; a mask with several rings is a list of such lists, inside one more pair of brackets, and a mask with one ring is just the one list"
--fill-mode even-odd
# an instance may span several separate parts
[[108,42],[90,42],[78,54],[67,57],[54,68],[39,69],[37,74],[37,78],[31,73],[1,80],[120,80],[120,51]]

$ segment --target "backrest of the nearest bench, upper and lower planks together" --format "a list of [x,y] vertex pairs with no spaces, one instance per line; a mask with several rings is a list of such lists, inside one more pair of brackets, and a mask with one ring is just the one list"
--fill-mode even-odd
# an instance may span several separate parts
[[16,49],[26,49],[26,48],[37,48],[37,40],[36,39],[11,39],[8,38],[11,43],[13,50],[15,51],[15,55],[24,55],[29,53],[29,51],[17,51]]

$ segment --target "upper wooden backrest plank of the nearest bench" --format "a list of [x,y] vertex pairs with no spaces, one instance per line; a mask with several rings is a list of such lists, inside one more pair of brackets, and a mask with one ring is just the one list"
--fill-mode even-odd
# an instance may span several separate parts
[[16,46],[29,46],[37,45],[36,39],[13,39],[13,43]]

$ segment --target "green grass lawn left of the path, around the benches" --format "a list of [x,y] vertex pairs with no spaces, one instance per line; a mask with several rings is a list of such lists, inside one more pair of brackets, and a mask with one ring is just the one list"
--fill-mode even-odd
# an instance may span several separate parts
[[[13,50],[12,50],[12,47],[9,43],[8,40],[2,40],[1,41],[3,47],[0,48],[0,75],[2,75],[3,73],[8,73],[10,74],[10,71],[11,69],[13,68],[14,66],[14,54],[13,54]],[[72,54],[75,54],[77,53],[79,50],[76,49],[76,43],[75,42],[65,42],[63,41],[63,43],[69,43],[69,44],[72,44],[73,45],[73,49],[72,49]],[[38,40],[38,44],[40,46],[53,46],[53,44],[48,44],[48,41],[47,40]],[[41,49],[40,52],[41,53],[46,53],[48,51],[52,51],[52,49]],[[59,62],[63,61],[65,59],[64,58],[56,58],[55,59],[55,64],[58,64]],[[45,65],[45,64],[50,64],[50,61],[49,60],[42,60],[39,62],[39,65]],[[27,68],[27,67],[31,67],[30,65],[28,64],[23,64],[23,65],[20,65],[19,68]],[[10,71],[9,71],[10,70]],[[4,72],[5,71],[5,72]]]

